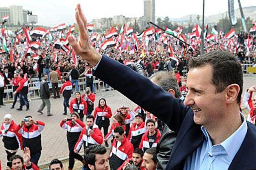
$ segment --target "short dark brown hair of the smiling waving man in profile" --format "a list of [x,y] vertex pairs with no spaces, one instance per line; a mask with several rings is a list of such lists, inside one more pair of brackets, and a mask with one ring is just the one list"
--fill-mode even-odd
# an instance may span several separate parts
[[204,55],[191,58],[188,61],[188,69],[203,67],[205,65],[212,66],[212,84],[216,87],[216,92],[220,93],[228,85],[237,84],[240,92],[237,96],[237,103],[240,103],[243,91],[243,72],[240,63],[236,58],[228,52],[213,50]]

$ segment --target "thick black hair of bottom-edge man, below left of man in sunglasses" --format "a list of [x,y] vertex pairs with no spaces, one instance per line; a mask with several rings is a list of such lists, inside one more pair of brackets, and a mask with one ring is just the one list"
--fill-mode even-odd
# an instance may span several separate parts
[[85,166],[89,168],[88,164],[95,166],[95,155],[100,154],[103,155],[107,152],[107,149],[104,146],[94,144],[86,148],[84,152],[84,161]]

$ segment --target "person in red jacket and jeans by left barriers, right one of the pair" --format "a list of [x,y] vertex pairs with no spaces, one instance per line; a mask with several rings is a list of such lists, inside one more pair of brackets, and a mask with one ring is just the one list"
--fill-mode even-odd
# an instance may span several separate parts
[[17,110],[22,110],[23,104],[25,103],[27,106],[26,110],[29,110],[29,102],[28,102],[28,77],[23,73],[20,73],[20,81],[19,87],[13,92],[13,95],[20,92],[20,108]]

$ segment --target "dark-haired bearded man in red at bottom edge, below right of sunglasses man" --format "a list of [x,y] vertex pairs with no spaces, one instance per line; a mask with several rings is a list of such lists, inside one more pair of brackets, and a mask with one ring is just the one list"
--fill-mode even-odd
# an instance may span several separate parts
[[134,149],[134,151],[132,152],[132,158],[126,159],[117,170],[125,170],[125,168],[130,165],[135,165],[138,169],[144,170],[144,167],[142,167],[142,157],[143,151],[139,148]]

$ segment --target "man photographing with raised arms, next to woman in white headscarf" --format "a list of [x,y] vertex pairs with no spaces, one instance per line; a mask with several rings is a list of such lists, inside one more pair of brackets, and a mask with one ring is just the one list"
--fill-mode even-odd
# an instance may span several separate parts
[[30,161],[36,166],[42,151],[41,132],[43,129],[44,122],[35,121],[32,116],[26,116],[17,128],[18,133],[22,135],[22,146],[30,149]]

